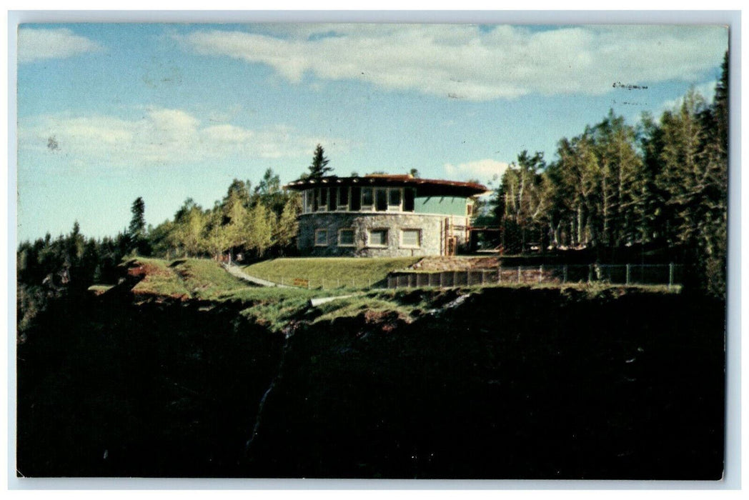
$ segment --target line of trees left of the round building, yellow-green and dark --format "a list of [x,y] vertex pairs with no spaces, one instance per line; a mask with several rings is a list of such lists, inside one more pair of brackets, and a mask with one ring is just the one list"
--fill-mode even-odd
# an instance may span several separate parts
[[116,284],[125,257],[213,257],[243,260],[282,255],[296,248],[299,195],[284,192],[267,170],[257,186],[234,180],[210,209],[187,199],[171,220],[145,225],[145,202],[131,207],[130,225],[115,237],[85,237],[78,222],[69,234],[49,234],[19,244],[16,252],[16,313],[19,339],[52,299],[75,299],[91,284]]

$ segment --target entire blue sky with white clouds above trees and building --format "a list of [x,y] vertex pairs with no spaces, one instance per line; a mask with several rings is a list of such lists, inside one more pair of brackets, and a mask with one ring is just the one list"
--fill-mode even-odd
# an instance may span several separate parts
[[497,185],[518,153],[613,109],[637,124],[712,99],[718,25],[23,24],[17,240],[171,219],[267,168]]

